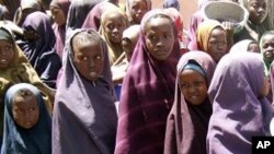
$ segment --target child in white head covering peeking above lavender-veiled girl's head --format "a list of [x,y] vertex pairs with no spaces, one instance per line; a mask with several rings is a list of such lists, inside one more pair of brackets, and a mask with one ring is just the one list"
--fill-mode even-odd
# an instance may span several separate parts
[[260,47],[256,42],[251,39],[244,39],[235,44],[229,52],[238,52],[238,51],[251,51],[260,54]]

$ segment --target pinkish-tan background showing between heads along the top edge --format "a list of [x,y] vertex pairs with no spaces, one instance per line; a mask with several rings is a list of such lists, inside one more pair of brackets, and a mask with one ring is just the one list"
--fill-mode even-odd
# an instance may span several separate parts
[[[151,0],[152,8],[162,8],[164,0]],[[179,0],[180,1],[180,13],[183,17],[184,28],[187,29],[192,14],[197,10],[197,0]],[[121,0],[125,2],[125,0]]]

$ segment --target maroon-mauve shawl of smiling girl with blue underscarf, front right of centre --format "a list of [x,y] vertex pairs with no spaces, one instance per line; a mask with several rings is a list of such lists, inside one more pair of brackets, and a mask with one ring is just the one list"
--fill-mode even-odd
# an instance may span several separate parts
[[179,80],[189,60],[195,60],[206,72],[210,83],[215,61],[204,51],[184,54],[178,63],[174,104],[167,122],[164,154],[206,154],[206,134],[212,115],[212,104],[207,98],[202,105],[193,106],[185,102]]

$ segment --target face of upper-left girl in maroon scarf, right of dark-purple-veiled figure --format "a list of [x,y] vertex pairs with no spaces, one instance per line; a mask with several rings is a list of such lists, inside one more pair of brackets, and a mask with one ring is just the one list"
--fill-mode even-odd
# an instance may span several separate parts
[[66,16],[60,8],[57,7],[50,7],[50,12],[53,14],[54,22],[58,25],[65,25],[66,24]]

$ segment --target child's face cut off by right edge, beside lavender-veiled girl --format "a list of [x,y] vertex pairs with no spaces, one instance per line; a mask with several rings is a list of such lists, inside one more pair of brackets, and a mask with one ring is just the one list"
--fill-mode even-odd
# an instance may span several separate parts
[[262,38],[262,54],[264,59],[273,61],[274,59],[274,35],[265,35]]

